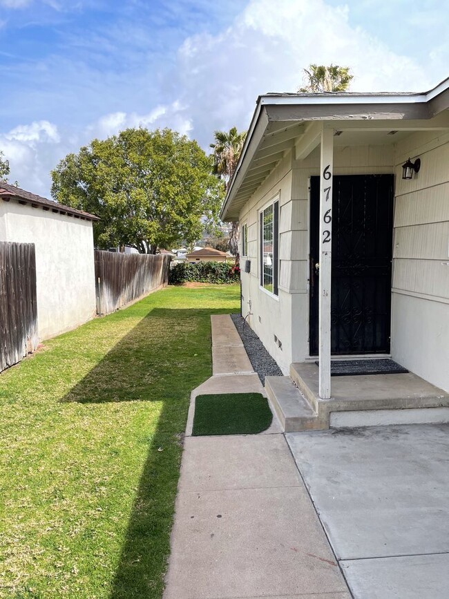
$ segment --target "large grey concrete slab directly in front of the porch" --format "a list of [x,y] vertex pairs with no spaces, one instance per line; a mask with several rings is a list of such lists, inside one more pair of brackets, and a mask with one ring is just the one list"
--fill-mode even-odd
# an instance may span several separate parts
[[449,553],[449,425],[286,438],[339,560]]

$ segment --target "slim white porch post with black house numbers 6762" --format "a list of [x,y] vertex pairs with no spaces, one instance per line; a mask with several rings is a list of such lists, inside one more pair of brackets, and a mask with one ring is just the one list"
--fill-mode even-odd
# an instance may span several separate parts
[[332,183],[334,160],[334,129],[321,129],[320,178],[320,266],[319,266],[319,381],[321,399],[330,399],[330,298],[332,267]]

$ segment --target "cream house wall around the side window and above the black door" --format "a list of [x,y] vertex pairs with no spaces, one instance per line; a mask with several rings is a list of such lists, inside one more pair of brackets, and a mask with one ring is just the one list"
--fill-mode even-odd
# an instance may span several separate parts
[[[247,225],[251,274],[242,266],[242,315],[276,359],[285,374],[292,362],[309,357],[309,178],[319,175],[319,147],[305,160],[288,153],[254,193],[239,217]],[[335,175],[388,174],[394,172],[392,146],[336,146]],[[258,261],[258,211],[280,193],[279,296],[260,289]],[[251,308],[249,305],[251,301]],[[282,349],[274,340],[282,343]]]

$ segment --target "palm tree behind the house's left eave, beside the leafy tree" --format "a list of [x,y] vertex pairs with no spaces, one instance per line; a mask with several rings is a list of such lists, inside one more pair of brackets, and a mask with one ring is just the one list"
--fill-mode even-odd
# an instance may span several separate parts
[[[238,159],[245,143],[246,131],[238,133],[237,127],[227,131],[215,131],[215,141],[210,144],[213,149],[213,173],[225,182],[226,191],[229,189],[232,175],[236,171]],[[232,223],[229,236],[229,249],[233,256],[238,254],[238,223]]]

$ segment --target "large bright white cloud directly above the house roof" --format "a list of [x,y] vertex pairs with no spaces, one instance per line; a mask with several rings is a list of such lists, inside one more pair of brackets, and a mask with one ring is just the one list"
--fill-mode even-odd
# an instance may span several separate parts
[[348,15],[323,0],[251,0],[220,35],[184,41],[173,86],[193,135],[206,145],[213,129],[246,128],[257,96],[296,91],[310,63],[350,66],[354,91],[421,91],[435,83],[428,65],[352,27]]

